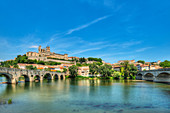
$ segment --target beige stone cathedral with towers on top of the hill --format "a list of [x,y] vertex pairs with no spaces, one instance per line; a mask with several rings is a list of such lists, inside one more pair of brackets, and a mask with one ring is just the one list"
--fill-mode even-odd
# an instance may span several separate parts
[[28,59],[32,60],[42,60],[47,61],[47,59],[64,59],[68,60],[68,54],[57,54],[50,51],[50,46],[47,46],[46,48],[42,49],[41,46],[38,47],[38,53],[37,52],[27,52],[26,56],[28,56]]

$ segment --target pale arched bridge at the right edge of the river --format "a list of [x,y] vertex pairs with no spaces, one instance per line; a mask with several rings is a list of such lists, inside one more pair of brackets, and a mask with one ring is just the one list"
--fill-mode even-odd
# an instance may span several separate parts
[[170,83],[170,68],[139,71],[137,73],[136,79]]

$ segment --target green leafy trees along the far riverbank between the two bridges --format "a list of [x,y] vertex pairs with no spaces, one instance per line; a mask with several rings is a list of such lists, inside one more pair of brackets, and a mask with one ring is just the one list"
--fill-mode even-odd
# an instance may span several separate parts
[[[96,76],[100,74],[104,78],[114,78],[114,79],[135,79],[137,74],[137,67],[133,64],[129,64],[128,61],[125,61],[121,64],[121,69],[119,71],[113,70],[111,65],[97,65],[96,63],[89,64],[90,74]],[[78,76],[78,67],[73,65],[69,67],[70,76],[75,78]]]

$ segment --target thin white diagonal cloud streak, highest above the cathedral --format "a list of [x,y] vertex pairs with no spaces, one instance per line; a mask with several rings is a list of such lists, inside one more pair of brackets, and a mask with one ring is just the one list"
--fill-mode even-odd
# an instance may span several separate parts
[[110,17],[110,16],[111,16],[111,15],[103,16],[103,17],[100,17],[100,18],[97,18],[97,19],[93,20],[92,22],[89,22],[89,23],[87,23],[87,24],[84,24],[84,25],[82,25],[82,26],[79,26],[79,27],[77,27],[77,28],[70,29],[70,30],[68,30],[68,32],[66,33],[66,35],[69,35],[69,34],[72,34],[72,33],[75,32],[75,31],[79,31],[79,30],[81,30],[81,29],[87,28],[87,27],[89,27],[90,25],[95,24],[95,23],[97,23],[97,22],[99,22],[99,21],[101,21],[101,20],[104,20],[104,19],[106,19],[106,18],[108,18],[108,17]]

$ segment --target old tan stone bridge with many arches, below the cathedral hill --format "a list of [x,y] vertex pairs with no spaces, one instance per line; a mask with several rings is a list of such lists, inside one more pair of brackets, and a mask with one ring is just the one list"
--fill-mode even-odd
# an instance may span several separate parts
[[0,74],[6,76],[8,83],[17,83],[21,76],[25,78],[25,82],[33,82],[35,78],[42,81],[45,77],[47,79],[65,79],[66,76],[66,73],[4,67],[0,67]]

